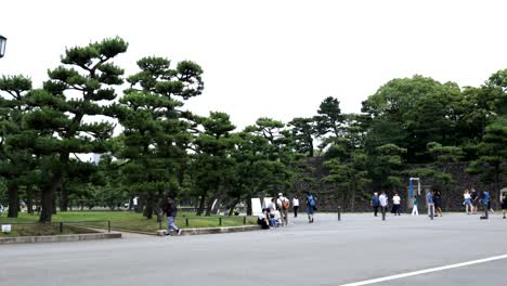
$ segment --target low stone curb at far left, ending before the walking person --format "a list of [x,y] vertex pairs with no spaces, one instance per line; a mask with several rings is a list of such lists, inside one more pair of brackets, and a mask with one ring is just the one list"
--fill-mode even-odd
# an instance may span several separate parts
[[121,238],[121,233],[90,233],[90,234],[68,234],[68,235],[48,235],[48,236],[2,237],[0,238],[0,245],[64,243],[64,242],[80,242],[80,240],[109,239],[109,238]]

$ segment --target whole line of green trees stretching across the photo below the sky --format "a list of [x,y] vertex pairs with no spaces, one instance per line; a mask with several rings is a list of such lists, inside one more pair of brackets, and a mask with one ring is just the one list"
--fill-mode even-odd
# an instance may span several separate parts
[[[259,118],[238,131],[225,113],[184,108],[204,91],[198,64],[148,56],[126,76],[114,60],[127,49],[121,38],[66,49],[39,89],[26,76],[2,76],[0,200],[9,217],[21,198],[50,222],[57,209],[114,209],[139,197],[138,211],[152,218],[167,196],[193,202],[198,214],[209,216],[216,199],[230,213],[246,202],[250,213],[251,197],[316,180],[354,209],[366,190],[404,187],[407,176],[450,188],[455,162],[495,192],[506,173],[507,69],[480,87],[393,79],[361,113],[343,114],[329,96],[313,117]],[[101,160],[82,159],[90,153]],[[322,179],[309,176],[315,156],[324,159]]]

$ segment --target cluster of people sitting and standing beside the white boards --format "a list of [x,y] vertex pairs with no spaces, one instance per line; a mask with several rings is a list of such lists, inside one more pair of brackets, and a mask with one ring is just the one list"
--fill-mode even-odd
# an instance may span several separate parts
[[[257,223],[264,230],[288,225],[288,210],[290,206],[294,210],[294,217],[297,218],[300,206],[298,196],[295,195],[290,204],[290,200],[283,193],[278,193],[278,197],[272,198],[270,204],[262,209],[262,213],[258,216]],[[313,212],[315,210],[315,197],[311,193],[307,193],[309,223],[313,223]]]

